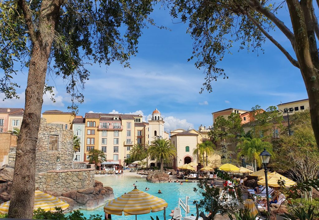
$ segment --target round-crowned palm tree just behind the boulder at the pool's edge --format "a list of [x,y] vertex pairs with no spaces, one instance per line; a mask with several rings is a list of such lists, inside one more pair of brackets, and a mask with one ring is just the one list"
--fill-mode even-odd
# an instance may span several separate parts
[[176,157],[176,150],[170,140],[157,138],[152,141],[148,148],[148,155],[160,161],[160,171],[163,171],[164,159],[169,159],[172,156]]

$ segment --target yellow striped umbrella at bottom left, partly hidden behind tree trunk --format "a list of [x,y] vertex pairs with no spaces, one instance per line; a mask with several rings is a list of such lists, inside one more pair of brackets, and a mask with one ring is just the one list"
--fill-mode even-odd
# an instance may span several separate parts
[[[70,206],[68,203],[63,202],[61,199],[56,198],[53,195],[41,192],[39,190],[36,190],[34,194],[34,210],[41,208],[45,211],[55,212],[55,207],[61,207],[62,210],[65,210]],[[9,205],[10,201],[2,203],[0,205],[0,213],[7,214],[9,211]]]

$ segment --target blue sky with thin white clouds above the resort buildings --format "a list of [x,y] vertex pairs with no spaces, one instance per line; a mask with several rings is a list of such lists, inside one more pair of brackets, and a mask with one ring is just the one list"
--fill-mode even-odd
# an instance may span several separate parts
[[[289,102],[307,98],[300,71],[268,40],[265,53],[247,53],[246,50],[225,55],[219,67],[225,69],[229,79],[219,78],[213,83],[213,92],[199,94],[204,83],[202,70],[193,62],[187,62],[192,53],[192,39],[186,34],[187,25],[174,24],[169,11],[152,13],[158,25],[172,31],[150,26],[139,40],[139,53],[130,60],[131,69],[123,69],[117,62],[108,69],[93,65],[88,69],[91,77],[85,84],[85,102],[79,106],[79,114],[85,112],[141,113],[148,117],[158,108],[164,117],[165,130],[198,128],[200,124],[211,125],[211,113],[225,108],[250,110],[260,105],[267,108],[280,101]],[[280,18],[290,23],[285,9]],[[289,24],[287,24],[288,27]],[[289,41],[279,31],[273,36],[286,48]],[[24,107],[26,74],[17,81],[21,84],[19,100],[5,100],[2,107]],[[50,80],[52,82],[52,80]],[[65,93],[62,79],[55,80],[56,103],[44,95],[42,112],[50,109],[67,111],[70,97]],[[3,94],[0,94],[3,98]]]

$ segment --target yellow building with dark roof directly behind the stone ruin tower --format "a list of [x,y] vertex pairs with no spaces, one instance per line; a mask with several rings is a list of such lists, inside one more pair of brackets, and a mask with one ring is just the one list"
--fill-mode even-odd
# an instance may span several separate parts
[[48,110],[43,112],[42,115],[47,123],[63,124],[64,129],[72,129],[72,121],[75,118],[75,114],[59,110]]

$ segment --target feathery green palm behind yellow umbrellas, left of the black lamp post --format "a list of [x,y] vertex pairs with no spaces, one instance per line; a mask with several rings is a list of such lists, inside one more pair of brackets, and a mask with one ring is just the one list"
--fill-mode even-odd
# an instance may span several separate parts
[[[257,164],[260,167],[261,166],[261,159],[259,157],[259,154],[264,150],[264,148],[273,155],[272,152],[272,145],[269,142],[262,141],[260,138],[247,138],[242,137],[241,143],[239,143],[236,146],[236,150],[241,150],[237,154],[237,158],[240,158],[241,155],[247,156],[249,159],[251,159],[251,164],[253,165],[253,162],[255,163],[255,170],[257,171]],[[253,166],[254,169],[254,166]]]

